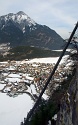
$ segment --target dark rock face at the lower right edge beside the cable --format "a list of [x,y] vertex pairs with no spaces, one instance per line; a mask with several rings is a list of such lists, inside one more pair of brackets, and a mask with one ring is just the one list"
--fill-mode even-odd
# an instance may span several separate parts
[[78,64],[69,89],[61,100],[56,125],[78,125]]

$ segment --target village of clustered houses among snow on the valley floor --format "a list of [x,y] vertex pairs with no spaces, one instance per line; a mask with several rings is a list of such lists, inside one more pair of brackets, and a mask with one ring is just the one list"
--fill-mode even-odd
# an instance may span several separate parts
[[[10,97],[26,93],[36,101],[55,66],[55,63],[43,62],[38,62],[37,59],[35,62],[27,59],[0,62],[0,92],[6,93]],[[43,95],[44,99],[61,86],[69,74],[72,74],[73,65],[74,63],[70,59],[59,65]]]

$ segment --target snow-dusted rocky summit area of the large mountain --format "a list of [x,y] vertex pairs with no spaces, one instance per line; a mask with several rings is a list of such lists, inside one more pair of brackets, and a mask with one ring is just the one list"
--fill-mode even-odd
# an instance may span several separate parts
[[[35,26],[37,23],[32,20],[27,14],[22,11],[19,11],[16,14],[10,13],[8,15],[4,15],[0,17],[0,26],[3,29],[8,21],[13,21],[17,26],[19,25],[20,29],[25,32],[25,26]],[[33,28],[34,29],[34,28]]]

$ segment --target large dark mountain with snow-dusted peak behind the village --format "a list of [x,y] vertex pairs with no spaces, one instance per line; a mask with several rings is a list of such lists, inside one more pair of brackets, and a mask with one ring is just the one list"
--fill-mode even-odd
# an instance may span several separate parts
[[19,11],[0,17],[0,43],[61,49],[64,40],[48,26],[40,25]]

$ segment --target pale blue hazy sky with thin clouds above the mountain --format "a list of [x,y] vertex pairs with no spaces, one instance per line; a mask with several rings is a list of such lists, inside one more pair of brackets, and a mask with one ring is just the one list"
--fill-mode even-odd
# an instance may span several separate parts
[[68,38],[78,21],[78,0],[0,0],[0,16],[18,11]]

